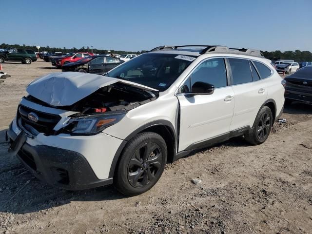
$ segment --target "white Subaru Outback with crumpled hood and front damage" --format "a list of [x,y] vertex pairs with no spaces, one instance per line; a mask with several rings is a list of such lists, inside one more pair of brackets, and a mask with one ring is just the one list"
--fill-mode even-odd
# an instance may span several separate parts
[[263,143],[284,106],[282,78],[252,49],[161,46],[104,75],[52,73],[27,87],[6,137],[39,179],[138,195],[196,149]]

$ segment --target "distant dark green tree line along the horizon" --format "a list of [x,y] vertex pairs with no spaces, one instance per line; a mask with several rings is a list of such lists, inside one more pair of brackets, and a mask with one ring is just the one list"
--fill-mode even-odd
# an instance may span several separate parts
[[[0,49],[7,49],[7,48],[17,48],[17,49],[27,49],[27,50],[34,50],[38,51],[37,47],[35,45],[10,45],[10,44],[5,44],[2,43],[0,45]],[[49,52],[63,52],[63,53],[69,53],[73,51],[79,51],[79,52],[92,52],[95,54],[107,54],[108,50],[100,50],[97,48],[90,48],[89,46],[87,47],[81,47],[80,49],[78,48],[60,48],[60,47],[50,47],[50,46],[42,46],[40,47],[39,51],[49,51]],[[110,53],[113,54],[142,54],[145,52],[148,52],[147,50],[142,50],[142,51],[122,51],[122,50],[110,50]],[[262,54],[266,59],[271,59],[271,60],[277,60],[277,59],[293,59],[296,62],[302,62],[302,61],[312,61],[312,53],[310,51],[300,51],[300,50],[295,50],[295,51],[285,51],[281,52],[280,50],[275,50],[272,52],[269,51],[261,51]]]

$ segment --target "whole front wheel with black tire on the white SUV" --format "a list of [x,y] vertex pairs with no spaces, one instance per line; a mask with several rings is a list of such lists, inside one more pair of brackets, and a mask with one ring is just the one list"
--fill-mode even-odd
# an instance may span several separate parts
[[153,132],[140,133],[125,146],[114,176],[115,188],[127,196],[151,189],[167,162],[167,145]]

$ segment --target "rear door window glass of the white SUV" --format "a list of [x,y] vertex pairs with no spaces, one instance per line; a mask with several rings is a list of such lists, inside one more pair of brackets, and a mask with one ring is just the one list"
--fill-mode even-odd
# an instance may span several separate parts
[[246,59],[229,59],[233,83],[244,84],[253,81],[252,72],[250,70],[249,61]]

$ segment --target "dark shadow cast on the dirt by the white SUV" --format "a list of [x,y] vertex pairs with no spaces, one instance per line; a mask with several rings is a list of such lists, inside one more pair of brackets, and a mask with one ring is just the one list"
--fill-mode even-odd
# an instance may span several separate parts
[[[0,131],[0,212],[27,214],[69,204],[72,201],[105,201],[124,199],[113,186],[81,191],[67,191],[39,181],[17,159],[7,153],[8,144],[4,141],[6,130]],[[215,147],[246,146],[242,137],[235,137]],[[192,156],[199,151],[193,151]]]

